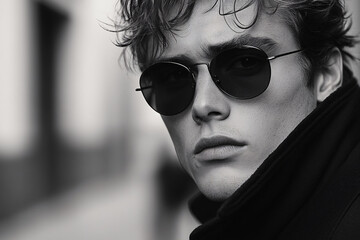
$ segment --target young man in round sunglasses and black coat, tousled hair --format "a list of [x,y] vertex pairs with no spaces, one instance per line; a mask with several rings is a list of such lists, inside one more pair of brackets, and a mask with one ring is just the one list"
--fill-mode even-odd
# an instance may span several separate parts
[[200,194],[191,239],[360,239],[340,0],[121,0],[120,46]]

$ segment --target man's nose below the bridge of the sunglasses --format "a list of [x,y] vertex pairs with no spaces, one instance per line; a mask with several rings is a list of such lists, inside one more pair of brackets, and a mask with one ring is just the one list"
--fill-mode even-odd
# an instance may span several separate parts
[[192,118],[198,124],[224,120],[230,115],[228,97],[216,86],[206,65],[199,65],[192,105]]

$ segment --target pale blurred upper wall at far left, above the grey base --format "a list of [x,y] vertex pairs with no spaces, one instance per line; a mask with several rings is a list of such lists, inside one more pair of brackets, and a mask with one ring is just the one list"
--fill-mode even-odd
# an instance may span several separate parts
[[16,157],[28,152],[35,138],[30,2],[0,4],[0,153]]

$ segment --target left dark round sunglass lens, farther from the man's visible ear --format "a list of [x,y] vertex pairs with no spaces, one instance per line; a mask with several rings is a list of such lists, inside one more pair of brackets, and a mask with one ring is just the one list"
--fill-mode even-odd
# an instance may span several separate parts
[[140,87],[148,104],[162,115],[182,112],[194,95],[192,74],[178,63],[152,65],[141,75]]

